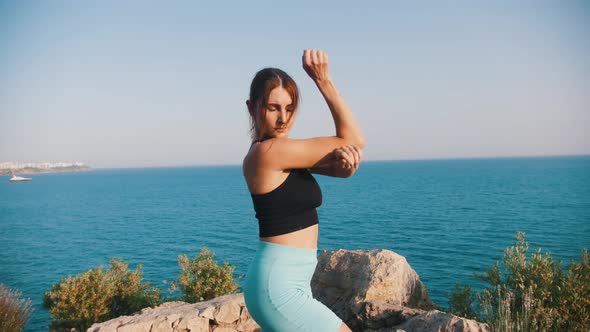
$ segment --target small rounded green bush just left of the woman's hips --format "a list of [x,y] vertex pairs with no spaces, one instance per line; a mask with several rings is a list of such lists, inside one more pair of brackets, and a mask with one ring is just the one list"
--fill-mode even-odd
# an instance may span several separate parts
[[233,279],[235,266],[226,261],[219,266],[213,257],[214,254],[206,247],[202,247],[199,256],[192,261],[186,255],[178,256],[182,271],[176,281],[170,283],[170,291],[180,288],[182,301],[189,303],[234,293],[238,288]]

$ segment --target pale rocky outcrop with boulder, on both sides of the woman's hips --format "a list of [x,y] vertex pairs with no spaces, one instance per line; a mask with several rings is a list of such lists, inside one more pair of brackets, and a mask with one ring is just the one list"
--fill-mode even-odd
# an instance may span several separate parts
[[[486,324],[434,310],[403,256],[389,250],[322,251],[313,295],[353,331],[489,331]],[[259,331],[242,294],[189,304],[168,302],[92,325],[88,332]]]

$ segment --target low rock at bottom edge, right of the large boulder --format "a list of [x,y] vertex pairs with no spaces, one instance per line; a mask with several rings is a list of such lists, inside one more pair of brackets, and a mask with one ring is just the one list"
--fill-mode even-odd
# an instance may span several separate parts
[[424,331],[424,332],[489,332],[488,324],[476,322],[471,319],[462,318],[432,310],[425,314],[415,316],[398,328],[405,331]]

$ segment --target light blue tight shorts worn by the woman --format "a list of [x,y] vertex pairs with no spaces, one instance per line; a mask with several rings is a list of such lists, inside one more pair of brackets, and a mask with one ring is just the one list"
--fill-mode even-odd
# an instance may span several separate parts
[[244,286],[248,312],[264,332],[336,332],[342,319],[312,297],[317,249],[259,241]]

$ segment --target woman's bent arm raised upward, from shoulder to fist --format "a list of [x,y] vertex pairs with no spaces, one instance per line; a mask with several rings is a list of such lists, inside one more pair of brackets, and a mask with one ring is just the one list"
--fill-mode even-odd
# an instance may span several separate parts
[[353,145],[361,149],[365,146],[365,139],[352,111],[330,78],[327,55],[321,51],[305,50],[303,68],[316,83],[330,108],[336,136],[266,140],[260,143],[255,154],[258,164],[263,168],[313,168],[329,160],[332,151],[341,146]]

